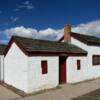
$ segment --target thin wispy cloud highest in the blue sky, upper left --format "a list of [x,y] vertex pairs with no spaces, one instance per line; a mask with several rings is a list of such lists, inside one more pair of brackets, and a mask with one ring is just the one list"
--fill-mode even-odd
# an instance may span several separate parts
[[22,2],[20,5],[17,6],[16,9],[14,9],[14,12],[20,11],[20,10],[32,10],[34,8],[34,5],[30,3],[29,1]]

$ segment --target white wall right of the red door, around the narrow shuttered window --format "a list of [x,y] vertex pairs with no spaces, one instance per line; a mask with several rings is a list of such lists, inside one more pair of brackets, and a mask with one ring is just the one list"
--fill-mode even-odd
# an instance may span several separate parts
[[[81,69],[77,70],[77,60],[81,62]],[[67,83],[76,83],[88,79],[86,57],[70,56],[66,61]]]

